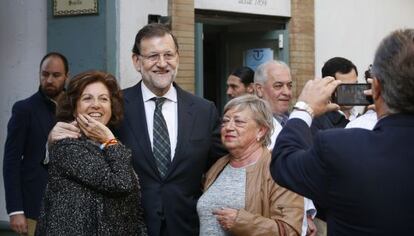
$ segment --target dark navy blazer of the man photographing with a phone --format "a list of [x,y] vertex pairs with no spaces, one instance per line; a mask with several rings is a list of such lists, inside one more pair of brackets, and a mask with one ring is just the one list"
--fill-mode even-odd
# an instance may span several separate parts
[[328,235],[412,235],[414,115],[389,115],[373,131],[331,129],[315,139],[289,120],[272,153],[280,185],[323,203]]

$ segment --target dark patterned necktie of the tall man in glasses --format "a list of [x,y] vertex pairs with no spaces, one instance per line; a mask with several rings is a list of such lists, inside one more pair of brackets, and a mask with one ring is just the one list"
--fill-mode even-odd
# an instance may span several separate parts
[[163,178],[167,174],[171,163],[170,137],[168,135],[167,123],[161,112],[165,99],[163,97],[151,99],[155,101],[152,152],[157,163],[158,171]]

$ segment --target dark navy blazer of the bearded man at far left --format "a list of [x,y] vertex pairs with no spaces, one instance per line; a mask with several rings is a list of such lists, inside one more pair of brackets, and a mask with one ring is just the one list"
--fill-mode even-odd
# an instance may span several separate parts
[[39,90],[16,102],[7,126],[3,178],[7,213],[24,211],[37,219],[47,182],[45,145],[55,125],[55,105]]

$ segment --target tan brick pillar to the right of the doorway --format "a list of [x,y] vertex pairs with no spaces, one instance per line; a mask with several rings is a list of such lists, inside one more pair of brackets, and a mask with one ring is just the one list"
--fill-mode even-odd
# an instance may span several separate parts
[[289,22],[290,68],[296,98],[306,81],[315,76],[315,3],[291,0]]

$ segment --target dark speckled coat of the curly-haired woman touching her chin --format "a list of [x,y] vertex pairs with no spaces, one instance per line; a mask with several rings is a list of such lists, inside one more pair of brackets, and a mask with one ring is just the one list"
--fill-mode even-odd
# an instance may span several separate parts
[[63,139],[51,147],[37,235],[146,235],[131,152]]

